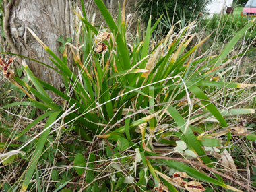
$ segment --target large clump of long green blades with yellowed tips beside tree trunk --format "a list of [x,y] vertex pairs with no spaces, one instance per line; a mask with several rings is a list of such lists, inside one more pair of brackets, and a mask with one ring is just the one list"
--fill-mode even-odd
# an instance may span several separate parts
[[[235,180],[223,173],[237,172],[232,162],[218,164],[218,170],[214,167],[229,154],[232,143],[238,139],[254,141],[255,137],[243,123],[234,126],[237,122],[233,117],[254,110],[228,108],[227,96],[222,94],[255,86],[223,78],[232,69],[228,66],[230,61],[243,55],[229,55],[241,36],[234,36],[219,55],[196,58],[197,50],[210,36],[188,49],[197,36],[192,34],[196,22],[191,22],[179,32],[171,28],[167,36],[155,43],[152,34],[160,18],[154,25],[150,19],[143,35],[138,26],[134,43],[127,46],[125,3],[122,14],[119,5],[114,21],[102,1],[94,2],[108,28],[94,27],[86,10],[76,9],[75,42],[63,44],[62,58],[28,28],[51,55],[63,76],[65,91],[34,77],[26,61],[24,71],[32,84],[13,77],[12,82],[26,89],[30,96],[28,101],[2,108],[34,106],[43,113],[10,136],[11,142],[20,141],[24,135],[28,138],[20,141],[19,147],[5,148],[6,154],[16,153],[7,154],[10,161],[4,170],[8,172],[13,163],[25,166],[20,166],[15,181],[3,184],[4,189],[245,189],[247,185],[241,183],[240,175],[235,174],[240,177]],[[248,22],[240,34],[254,25],[254,20]],[[73,53],[73,69],[67,67],[68,48]],[[59,95],[63,104],[56,104],[45,90]],[[249,98],[254,97],[252,94]],[[28,134],[34,127],[38,133]],[[18,156],[20,161],[16,160]],[[236,185],[230,186],[227,180]]]

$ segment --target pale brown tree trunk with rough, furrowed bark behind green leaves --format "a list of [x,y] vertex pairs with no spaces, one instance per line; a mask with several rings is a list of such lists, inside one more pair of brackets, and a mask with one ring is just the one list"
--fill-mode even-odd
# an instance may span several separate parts
[[[5,36],[13,53],[18,52],[20,55],[55,67],[49,59],[51,55],[26,30],[27,27],[32,29],[53,53],[62,58],[62,54],[58,50],[62,45],[57,42],[57,39],[61,35],[64,40],[72,36],[71,2],[69,0],[11,0],[9,2],[5,0]],[[69,59],[69,61],[72,60]],[[34,61],[26,61],[26,63],[36,77],[60,89],[63,82],[61,75],[40,63]],[[55,69],[57,68],[55,67]]]

